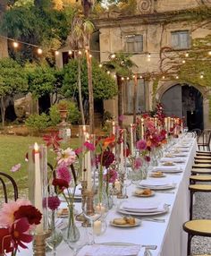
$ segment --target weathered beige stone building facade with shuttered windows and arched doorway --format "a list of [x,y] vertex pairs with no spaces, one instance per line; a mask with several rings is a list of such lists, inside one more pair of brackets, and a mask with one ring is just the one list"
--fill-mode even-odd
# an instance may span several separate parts
[[[137,64],[133,70],[139,74],[137,112],[151,111],[155,102],[161,101],[166,114],[184,116],[190,130],[211,127],[208,118],[210,90],[190,81],[181,82],[175,72],[168,76],[171,65],[165,62],[161,65],[161,52],[171,49],[168,57],[173,57],[175,52],[189,53],[193,39],[211,34],[211,17],[206,21],[190,19],[191,10],[201,7],[210,8],[211,1],[137,0],[133,15],[105,13],[95,20],[99,30],[100,61],[107,61],[111,53],[123,51],[131,54],[131,60]],[[160,75],[156,92],[154,74]],[[124,87],[125,122],[131,123],[132,80],[125,81]],[[117,98],[106,100],[104,107],[117,116]]]

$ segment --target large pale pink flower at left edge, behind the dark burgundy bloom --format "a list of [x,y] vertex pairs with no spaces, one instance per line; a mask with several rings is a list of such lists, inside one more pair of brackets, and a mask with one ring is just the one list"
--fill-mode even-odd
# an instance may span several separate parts
[[0,224],[4,224],[5,227],[12,226],[15,220],[14,212],[17,211],[22,205],[31,205],[31,203],[28,200],[22,199],[4,203],[0,211]]

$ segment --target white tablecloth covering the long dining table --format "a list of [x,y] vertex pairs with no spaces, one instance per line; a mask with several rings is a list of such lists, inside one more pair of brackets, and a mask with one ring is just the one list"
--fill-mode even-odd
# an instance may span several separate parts
[[[159,180],[166,183],[175,183],[172,190],[157,191],[154,196],[148,198],[140,198],[134,196],[134,191],[137,189],[134,184],[128,187],[128,199],[134,203],[161,203],[168,205],[168,211],[163,215],[155,216],[154,218],[165,219],[165,222],[148,221],[142,218],[139,226],[133,227],[118,227],[109,225],[114,218],[119,218],[120,213],[115,206],[109,210],[106,217],[107,228],[105,234],[96,236],[96,243],[132,243],[132,244],[148,244],[156,245],[156,250],[150,250],[153,256],[186,256],[187,255],[187,235],[182,230],[182,224],[189,219],[190,215],[190,193],[189,193],[189,177],[191,166],[194,161],[194,156],[197,150],[197,141],[194,138],[187,136],[182,137],[182,143],[189,143],[190,148],[186,153],[187,156],[183,163],[180,163],[180,173],[169,173]],[[181,140],[177,141],[173,147],[178,149],[181,146]],[[159,164],[161,165],[161,163]],[[155,179],[149,177],[148,179]],[[156,179],[158,180],[158,179]],[[115,203],[119,204],[116,200]],[[76,206],[80,209],[80,203]],[[86,250],[92,245],[86,245],[77,254],[85,256]],[[140,247],[139,256],[143,256],[144,247]],[[32,255],[32,250],[21,250],[18,255]],[[66,243],[61,243],[57,248],[57,255],[72,255],[71,249]],[[96,255],[97,256],[97,255]],[[120,255],[121,256],[121,255]]]

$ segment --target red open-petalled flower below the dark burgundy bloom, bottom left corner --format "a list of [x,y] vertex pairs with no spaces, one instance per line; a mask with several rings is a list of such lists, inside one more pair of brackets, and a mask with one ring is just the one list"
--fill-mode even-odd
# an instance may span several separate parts
[[20,218],[13,223],[13,226],[11,227],[11,237],[14,249],[18,248],[19,245],[23,249],[28,248],[24,243],[30,243],[33,240],[33,236],[27,234],[29,229],[30,224],[27,218]]

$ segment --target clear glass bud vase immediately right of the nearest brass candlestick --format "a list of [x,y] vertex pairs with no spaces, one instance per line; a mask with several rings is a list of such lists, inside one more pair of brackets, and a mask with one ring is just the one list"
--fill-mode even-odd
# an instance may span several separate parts
[[[51,235],[46,239],[46,252],[51,252],[51,255],[56,255],[57,246],[62,243],[63,235],[61,231],[55,226],[56,211],[52,210],[50,219]],[[49,254],[48,254],[49,255]]]

